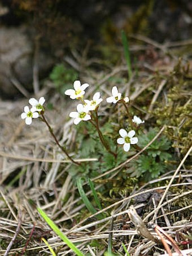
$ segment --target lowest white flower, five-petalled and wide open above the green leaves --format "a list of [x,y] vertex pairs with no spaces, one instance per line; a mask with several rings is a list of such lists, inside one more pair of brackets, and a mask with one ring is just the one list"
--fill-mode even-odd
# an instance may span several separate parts
[[137,144],[138,138],[133,137],[136,132],[134,130],[130,132],[126,132],[125,129],[120,129],[119,134],[121,138],[117,138],[117,143],[118,144],[124,144],[123,149],[124,151],[128,152],[130,149],[130,144]]

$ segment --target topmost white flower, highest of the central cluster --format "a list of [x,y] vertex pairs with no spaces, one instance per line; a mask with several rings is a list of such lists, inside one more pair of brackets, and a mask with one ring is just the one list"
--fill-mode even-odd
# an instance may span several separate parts
[[68,89],[66,90],[65,94],[70,96],[71,99],[81,98],[85,94],[85,89],[88,88],[88,86],[89,84],[81,85],[80,81],[75,81],[73,83],[73,87],[75,90]]

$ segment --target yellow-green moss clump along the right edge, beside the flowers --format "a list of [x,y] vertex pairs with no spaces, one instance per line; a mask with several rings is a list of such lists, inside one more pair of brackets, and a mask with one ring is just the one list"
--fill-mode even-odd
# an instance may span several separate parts
[[177,147],[183,154],[189,150],[192,142],[191,81],[187,79],[189,71],[186,66],[183,66],[181,61],[178,62],[168,77],[166,101],[156,103],[152,111],[156,124],[167,125],[165,134],[173,141],[172,146]]

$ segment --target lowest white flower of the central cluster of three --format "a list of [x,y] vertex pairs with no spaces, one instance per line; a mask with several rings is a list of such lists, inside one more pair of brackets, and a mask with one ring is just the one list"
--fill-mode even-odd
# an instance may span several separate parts
[[75,118],[73,123],[78,124],[82,120],[87,121],[91,119],[91,116],[88,114],[89,109],[88,107],[82,105],[81,103],[77,105],[77,112],[71,112],[69,114],[70,118]]

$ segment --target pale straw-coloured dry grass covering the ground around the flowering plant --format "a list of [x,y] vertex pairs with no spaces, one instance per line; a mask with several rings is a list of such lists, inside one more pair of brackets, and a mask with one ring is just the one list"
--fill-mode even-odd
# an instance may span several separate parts
[[[142,38],[140,39],[142,40]],[[163,54],[165,50],[168,50],[168,48],[165,49],[165,46],[154,47],[162,48]],[[164,55],[163,58],[165,58]],[[175,61],[174,58],[172,61],[170,60],[169,69],[172,69]],[[168,71],[164,68],[164,64],[159,64],[162,62],[163,59],[159,59],[156,65],[161,75],[165,76]],[[80,66],[81,63],[77,62],[77,64]],[[143,65],[147,66],[147,63],[144,62]],[[132,86],[134,87],[132,90],[134,92],[130,95],[132,100],[137,99],[152,84],[150,69],[154,69],[154,67],[147,66],[147,68],[149,71],[139,73],[139,79],[136,80],[133,77],[131,81],[121,87],[126,93],[130,92]],[[107,97],[107,94],[110,93],[106,83],[108,77],[125,71],[125,66],[112,68],[111,72],[107,74],[93,71],[90,74],[90,71],[86,71],[82,79],[90,84],[98,84],[102,93]],[[149,78],[145,79],[145,84],[143,84],[143,77],[147,76]],[[154,91],[149,110],[152,110],[165,83],[166,80],[162,79]],[[59,96],[59,94],[50,94],[50,90],[53,91],[49,86],[46,90],[43,89],[43,96],[47,96],[46,98],[49,98],[49,102],[53,103],[55,107],[54,110],[47,111],[46,115],[59,138],[60,144],[66,142],[68,147],[72,149],[76,132],[72,120],[68,120],[67,116],[75,105],[73,102],[64,102],[63,96]],[[88,94],[91,94],[91,91],[92,89],[89,90]],[[38,94],[42,95],[42,92]],[[192,170],[186,170],[185,160],[189,156],[191,148],[181,159],[176,170],[150,181],[138,190],[133,190],[130,194],[121,195],[121,199],[111,200],[110,205],[107,204],[107,207],[100,211],[107,212],[108,216],[102,220],[95,220],[95,215],[82,214],[85,205],[78,196],[76,185],[68,173],[71,163],[64,158],[55,145],[47,133],[45,125],[35,120],[33,125],[26,126],[20,119],[20,113],[26,103],[27,99],[14,102],[0,101],[1,255],[6,255],[6,250],[7,255],[50,255],[50,251],[42,242],[41,237],[47,239],[57,255],[73,255],[72,251],[60,241],[60,238],[38,215],[30,200],[36,206],[41,207],[72,242],[78,242],[77,247],[85,254],[89,253],[88,255],[103,255],[109,242],[112,242],[113,248],[119,251],[119,255],[125,255],[122,242],[128,248],[130,255],[152,255],[154,252],[158,253],[157,255],[168,255],[164,254],[162,242],[155,229],[149,228],[148,230],[155,241],[158,240],[159,242],[151,241],[145,235],[145,228],[149,223],[162,223],[163,231],[177,241],[179,245],[181,245],[181,241],[187,240],[186,236],[190,237],[191,216],[186,212],[189,213],[192,207],[189,203],[192,198]],[[102,111],[105,107],[103,105]],[[146,119],[149,116],[149,112],[146,112]],[[163,132],[163,129],[164,127],[154,140]],[[145,149],[138,152],[137,155]],[[94,161],[97,159],[81,160]],[[112,170],[98,175],[93,180],[97,182],[106,175],[108,175],[108,180],[114,179],[122,168],[126,168],[126,164],[130,160],[132,158]],[[60,179],[63,179],[62,182]],[[102,188],[102,186],[104,183],[98,184],[96,189]],[[88,194],[90,193],[88,192]],[[137,223],[137,215],[130,211],[133,199],[134,208],[137,209],[137,212],[141,212],[142,222]],[[179,205],[180,200],[186,201],[186,204],[183,203],[178,209],[174,206]],[[77,223],[77,220],[80,221]],[[98,244],[90,243],[91,241],[97,241]],[[170,244],[170,241],[167,242]],[[100,247],[99,244],[101,244]],[[8,248],[9,245],[10,248]],[[176,254],[173,253],[172,255]],[[182,255],[192,255],[190,244],[185,245]]]

